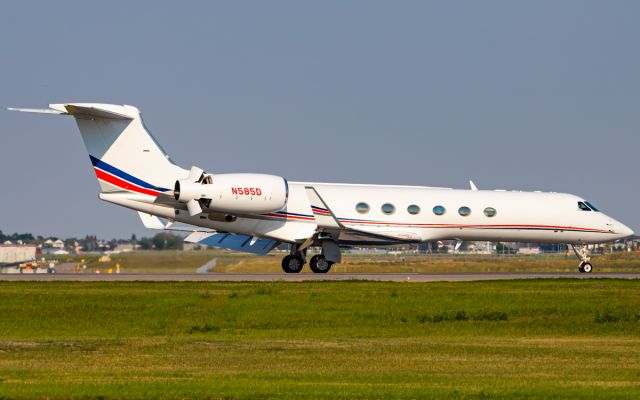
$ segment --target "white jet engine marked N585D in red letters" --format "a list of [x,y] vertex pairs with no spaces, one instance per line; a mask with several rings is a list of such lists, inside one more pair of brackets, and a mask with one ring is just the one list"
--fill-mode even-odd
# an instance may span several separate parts
[[[191,174],[197,176],[197,174]],[[281,210],[287,204],[289,185],[280,176],[264,174],[202,175],[178,180],[174,197],[186,203],[190,215],[203,211],[262,214]]]

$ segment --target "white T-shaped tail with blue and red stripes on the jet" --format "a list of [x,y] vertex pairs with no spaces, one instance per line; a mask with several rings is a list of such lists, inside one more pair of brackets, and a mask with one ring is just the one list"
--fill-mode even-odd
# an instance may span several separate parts
[[188,171],[175,165],[142,122],[133,106],[71,103],[49,109],[14,111],[71,115],[89,152],[102,193],[135,192],[149,196],[172,192]]

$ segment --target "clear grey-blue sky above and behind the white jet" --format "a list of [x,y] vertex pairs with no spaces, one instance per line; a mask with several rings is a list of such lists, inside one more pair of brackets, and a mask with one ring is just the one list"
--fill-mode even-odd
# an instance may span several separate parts
[[[640,231],[640,2],[3,2],[0,106],[140,108],[171,157],[570,192]],[[150,235],[72,119],[0,110],[0,230]]]

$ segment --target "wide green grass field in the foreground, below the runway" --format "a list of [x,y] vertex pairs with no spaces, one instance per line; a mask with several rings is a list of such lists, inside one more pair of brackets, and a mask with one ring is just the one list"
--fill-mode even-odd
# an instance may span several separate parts
[[640,282],[0,282],[0,398],[640,397]]

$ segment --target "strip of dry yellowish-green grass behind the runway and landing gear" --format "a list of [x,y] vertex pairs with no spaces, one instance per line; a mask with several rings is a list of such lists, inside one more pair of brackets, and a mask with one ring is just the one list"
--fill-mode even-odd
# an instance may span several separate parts
[[[283,253],[254,256],[226,250],[206,251],[139,251],[112,256],[112,261],[99,263],[98,256],[60,259],[79,262],[85,258],[89,271],[102,272],[116,262],[124,273],[193,273],[215,258],[214,272],[282,272]],[[640,253],[612,253],[593,257],[594,272],[640,272]],[[390,255],[349,254],[333,272],[577,272],[578,260],[573,255]],[[310,272],[308,265],[303,272]]]

